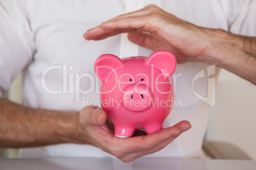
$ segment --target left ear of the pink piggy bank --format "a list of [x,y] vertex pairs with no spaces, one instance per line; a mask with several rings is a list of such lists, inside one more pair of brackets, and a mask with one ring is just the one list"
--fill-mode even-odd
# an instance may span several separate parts
[[123,63],[124,61],[118,58],[118,56],[109,54],[101,55],[94,64],[94,70],[97,77],[99,77],[102,82],[106,82],[108,75],[110,75],[113,70],[123,67]]

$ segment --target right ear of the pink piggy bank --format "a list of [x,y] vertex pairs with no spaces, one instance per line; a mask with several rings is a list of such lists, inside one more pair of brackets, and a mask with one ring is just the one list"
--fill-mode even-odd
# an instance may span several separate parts
[[165,78],[168,79],[176,69],[177,60],[170,51],[160,50],[152,53],[146,59],[146,63],[158,67],[166,75]]

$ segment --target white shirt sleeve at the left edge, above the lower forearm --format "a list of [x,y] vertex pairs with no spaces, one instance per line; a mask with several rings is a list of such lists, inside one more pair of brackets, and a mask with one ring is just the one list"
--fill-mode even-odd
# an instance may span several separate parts
[[32,61],[34,42],[24,3],[0,0],[0,97]]

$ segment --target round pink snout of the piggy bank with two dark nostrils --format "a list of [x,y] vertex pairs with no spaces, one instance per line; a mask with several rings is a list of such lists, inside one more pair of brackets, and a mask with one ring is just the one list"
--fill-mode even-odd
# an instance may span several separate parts
[[122,103],[127,110],[140,112],[149,108],[152,94],[145,85],[128,86],[122,95]]

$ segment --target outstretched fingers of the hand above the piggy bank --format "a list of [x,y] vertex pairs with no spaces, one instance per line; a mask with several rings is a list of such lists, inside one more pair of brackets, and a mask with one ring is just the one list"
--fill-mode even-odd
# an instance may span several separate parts
[[117,16],[108,20],[108,22],[103,22],[101,25],[87,30],[83,37],[87,40],[100,40],[124,32],[134,32],[137,29],[146,32],[157,32],[160,20],[158,15],[150,14],[155,8],[158,7],[150,5],[142,10]]

